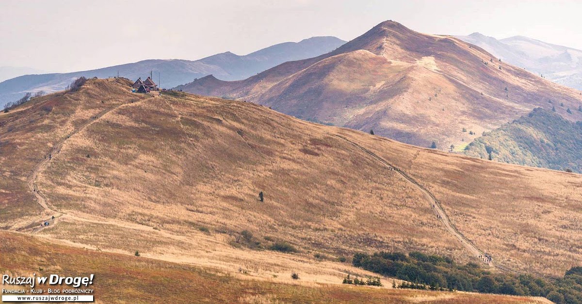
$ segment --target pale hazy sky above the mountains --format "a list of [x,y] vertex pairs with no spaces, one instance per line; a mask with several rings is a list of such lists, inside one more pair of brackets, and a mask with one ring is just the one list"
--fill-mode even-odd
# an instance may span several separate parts
[[0,0],[0,13],[0,66],[50,71],[244,55],[316,35],[351,40],[389,19],[423,33],[582,49],[582,1]]

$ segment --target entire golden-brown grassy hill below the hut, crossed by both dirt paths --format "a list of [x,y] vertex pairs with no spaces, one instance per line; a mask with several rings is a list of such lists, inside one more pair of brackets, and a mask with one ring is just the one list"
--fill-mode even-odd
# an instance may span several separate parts
[[338,283],[361,271],[342,256],[379,250],[475,263],[488,252],[546,276],[582,264],[576,174],[418,148],[250,102],[132,94],[129,84],[90,79],[0,114],[3,229],[255,278],[300,271],[310,282]]

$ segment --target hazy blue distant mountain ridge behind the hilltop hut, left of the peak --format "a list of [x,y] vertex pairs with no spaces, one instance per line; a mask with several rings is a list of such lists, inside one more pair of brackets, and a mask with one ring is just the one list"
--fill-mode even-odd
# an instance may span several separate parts
[[164,88],[188,83],[194,78],[208,74],[213,74],[223,80],[239,80],[289,60],[327,53],[344,43],[345,41],[336,37],[312,37],[300,42],[272,45],[244,56],[225,52],[194,61],[151,59],[88,71],[24,75],[0,83],[0,106],[19,99],[24,92],[63,90],[74,79],[81,76],[107,78],[119,74],[119,76],[137,79],[150,76],[150,71],[153,71],[154,80],[161,82],[161,87]]

